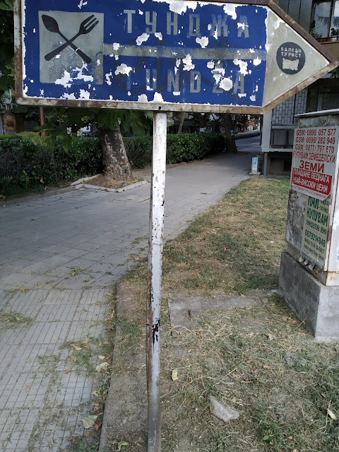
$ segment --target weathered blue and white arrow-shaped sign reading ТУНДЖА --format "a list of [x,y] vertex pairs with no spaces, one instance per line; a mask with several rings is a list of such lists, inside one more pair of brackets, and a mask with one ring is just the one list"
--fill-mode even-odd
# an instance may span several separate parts
[[251,3],[18,0],[19,102],[263,112],[335,66]]

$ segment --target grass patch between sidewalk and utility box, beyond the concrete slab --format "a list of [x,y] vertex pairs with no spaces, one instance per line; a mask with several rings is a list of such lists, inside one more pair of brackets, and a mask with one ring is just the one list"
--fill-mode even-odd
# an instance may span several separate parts
[[285,248],[289,181],[250,179],[165,246],[163,290],[272,289]]

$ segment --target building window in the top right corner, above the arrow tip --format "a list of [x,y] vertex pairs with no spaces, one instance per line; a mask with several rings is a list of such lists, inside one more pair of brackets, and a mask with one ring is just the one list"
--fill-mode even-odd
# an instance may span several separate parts
[[313,2],[311,35],[317,40],[339,40],[339,0]]

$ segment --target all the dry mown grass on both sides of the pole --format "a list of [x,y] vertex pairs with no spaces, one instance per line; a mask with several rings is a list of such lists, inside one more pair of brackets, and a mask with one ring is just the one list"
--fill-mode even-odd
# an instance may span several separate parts
[[[339,346],[314,342],[283,299],[265,295],[278,286],[288,191],[287,179],[248,179],[165,246],[164,452],[339,450]],[[145,326],[146,267],[144,262],[132,270],[123,283],[140,331]],[[167,298],[172,295],[246,295],[254,290],[262,306],[205,311],[192,317],[192,328],[186,330],[170,326]],[[130,338],[126,331],[121,345],[143,349],[144,340],[143,333]],[[121,350],[113,374],[125,366]],[[129,373],[141,371],[133,370],[133,362],[128,367]],[[239,410],[239,419],[225,424],[214,417],[210,396]],[[130,452],[145,448],[140,432],[124,439]]]

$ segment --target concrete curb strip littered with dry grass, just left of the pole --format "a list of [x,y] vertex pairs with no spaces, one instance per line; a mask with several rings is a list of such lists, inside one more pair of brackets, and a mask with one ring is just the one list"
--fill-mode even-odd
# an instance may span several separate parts
[[[99,452],[113,452],[112,444],[129,441],[131,444],[147,443],[147,386],[145,350],[143,347],[127,347],[124,328],[138,316],[135,299],[129,295],[129,287],[123,280],[117,283],[117,326],[112,357],[112,374],[105,400]],[[136,319],[136,318],[135,318]],[[141,333],[143,335],[143,331]],[[117,366],[119,369],[117,369]],[[143,446],[141,446],[143,447]],[[146,450],[147,446],[141,448]]]

